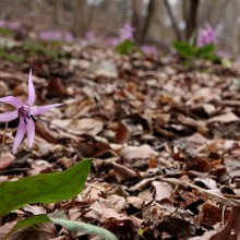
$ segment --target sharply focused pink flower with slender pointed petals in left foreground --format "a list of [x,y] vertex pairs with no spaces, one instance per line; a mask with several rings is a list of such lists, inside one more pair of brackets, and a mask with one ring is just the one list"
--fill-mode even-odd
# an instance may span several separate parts
[[29,71],[29,76],[28,76],[28,98],[26,103],[23,104],[20,99],[13,96],[2,97],[0,98],[0,101],[10,104],[16,108],[16,110],[0,113],[0,122],[9,122],[16,118],[20,118],[20,123],[13,144],[13,154],[16,153],[16,149],[20,143],[22,142],[25,133],[27,133],[28,147],[32,147],[35,137],[35,124],[33,120],[34,116],[43,115],[47,110],[62,105],[62,104],[52,104],[52,105],[41,106],[39,108],[33,108],[35,101],[35,89],[32,80],[32,70]]

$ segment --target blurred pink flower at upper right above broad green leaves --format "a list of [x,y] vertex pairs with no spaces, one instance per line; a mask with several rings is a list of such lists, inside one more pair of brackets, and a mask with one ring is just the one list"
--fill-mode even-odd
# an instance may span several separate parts
[[209,25],[200,31],[197,38],[196,38],[196,46],[203,47],[208,44],[216,44],[217,43],[217,33],[216,31]]

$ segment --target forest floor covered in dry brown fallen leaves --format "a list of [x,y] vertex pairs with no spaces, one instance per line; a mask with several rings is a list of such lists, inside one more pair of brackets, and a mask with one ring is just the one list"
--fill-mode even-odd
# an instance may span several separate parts
[[[60,211],[120,240],[239,238],[239,62],[74,45],[52,58],[32,47],[1,55],[0,97],[24,99],[32,68],[36,105],[63,106],[36,118],[33,147],[25,140],[15,156],[17,121],[10,122],[0,181],[65,170],[84,158],[93,165],[76,197],[13,211],[2,235],[20,219]],[[13,62],[14,55],[25,59]],[[34,231],[38,239],[97,239],[53,224]],[[33,239],[26,232],[11,239]]]

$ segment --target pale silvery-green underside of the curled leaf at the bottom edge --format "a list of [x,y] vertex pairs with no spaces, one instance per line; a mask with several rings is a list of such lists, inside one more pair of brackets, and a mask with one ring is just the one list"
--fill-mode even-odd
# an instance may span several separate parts
[[110,231],[94,225],[60,219],[60,218],[52,218],[52,217],[49,218],[51,219],[52,223],[61,225],[62,227],[67,228],[69,231],[81,231],[88,235],[96,235],[105,240],[118,240],[118,238]]

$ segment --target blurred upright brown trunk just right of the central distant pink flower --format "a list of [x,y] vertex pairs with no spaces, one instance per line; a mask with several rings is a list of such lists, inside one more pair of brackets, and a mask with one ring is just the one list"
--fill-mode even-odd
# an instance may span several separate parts
[[140,40],[142,32],[143,0],[132,0],[132,26],[135,28],[134,37]]

